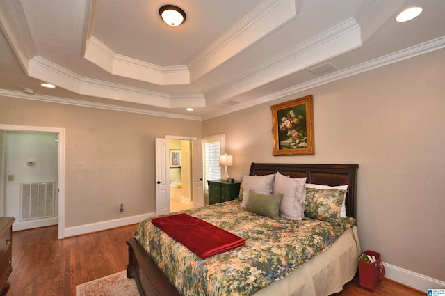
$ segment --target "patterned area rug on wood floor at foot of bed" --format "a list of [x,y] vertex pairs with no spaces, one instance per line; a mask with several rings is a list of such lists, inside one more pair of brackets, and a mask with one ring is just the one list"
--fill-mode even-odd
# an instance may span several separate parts
[[127,270],[76,286],[77,296],[139,296],[136,281],[127,278]]

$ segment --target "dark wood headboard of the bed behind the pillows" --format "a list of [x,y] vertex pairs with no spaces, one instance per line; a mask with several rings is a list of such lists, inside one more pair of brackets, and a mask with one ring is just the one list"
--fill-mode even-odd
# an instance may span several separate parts
[[307,183],[320,185],[346,185],[346,215],[355,217],[358,164],[259,164],[250,165],[251,176],[263,176],[279,171],[292,178],[307,178]]

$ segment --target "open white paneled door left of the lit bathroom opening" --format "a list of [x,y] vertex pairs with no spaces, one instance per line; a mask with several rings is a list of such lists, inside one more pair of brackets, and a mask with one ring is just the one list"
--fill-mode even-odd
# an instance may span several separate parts
[[168,139],[156,138],[156,216],[170,214],[170,153]]

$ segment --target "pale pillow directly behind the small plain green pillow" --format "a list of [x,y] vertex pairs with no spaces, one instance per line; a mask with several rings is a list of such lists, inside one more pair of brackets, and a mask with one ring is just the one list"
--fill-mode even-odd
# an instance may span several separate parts
[[273,177],[273,174],[265,176],[244,175],[243,178],[241,178],[240,198],[243,201],[241,207],[245,208],[245,205],[248,203],[249,190],[253,190],[260,194],[272,194]]

